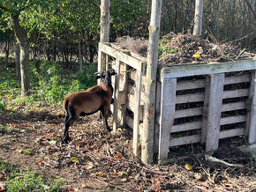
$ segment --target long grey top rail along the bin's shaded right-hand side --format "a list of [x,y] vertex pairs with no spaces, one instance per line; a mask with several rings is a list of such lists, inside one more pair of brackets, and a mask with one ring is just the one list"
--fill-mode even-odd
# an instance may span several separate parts
[[159,66],[161,78],[181,78],[205,74],[217,74],[224,72],[235,72],[242,70],[255,70],[256,60],[244,60],[227,63],[205,63],[205,64],[184,64],[170,67]]

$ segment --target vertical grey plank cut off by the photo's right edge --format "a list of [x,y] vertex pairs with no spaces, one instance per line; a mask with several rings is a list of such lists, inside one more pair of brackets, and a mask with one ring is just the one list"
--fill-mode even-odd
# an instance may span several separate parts
[[256,72],[252,71],[251,86],[249,92],[249,110],[247,111],[246,132],[248,133],[248,143],[256,144]]

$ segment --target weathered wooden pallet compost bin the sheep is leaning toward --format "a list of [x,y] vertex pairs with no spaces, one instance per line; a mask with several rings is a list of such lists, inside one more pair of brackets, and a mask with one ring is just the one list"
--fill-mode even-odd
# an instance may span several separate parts
[[[114,43],[100,43],[99,55],[99,63],[117,70],[113,128],[119,118],[122,125],[133,129],[133,151],[138,154],[147,58]],[[158,162],[168,161],[169,147],[205,143],[206,151],[215,151],[219,140],[227,137],[245,135],[255,147],[255,70],[255,59],[158,66],[157,91],[148,92],[156,96],[154,150]]]

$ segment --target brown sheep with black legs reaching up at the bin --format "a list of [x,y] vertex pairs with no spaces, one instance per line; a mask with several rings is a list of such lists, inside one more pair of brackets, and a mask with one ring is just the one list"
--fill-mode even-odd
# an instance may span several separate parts
[[101,111],[103,119],[103,127],[109,128],[107,118],[109,114],[109,105],[113,101],[113,87],[111,76],[116,75],[115,70],[107,70],[94,73],[97,75],[95,78],[101,78],[101,84],[95,85],[87,91],[72,92],[67,95],[63,101],[65,111],[64,118],[64,143],[68,143],[71,139],[69,137],[69,127],[75,122],[79,116],[94,114]]

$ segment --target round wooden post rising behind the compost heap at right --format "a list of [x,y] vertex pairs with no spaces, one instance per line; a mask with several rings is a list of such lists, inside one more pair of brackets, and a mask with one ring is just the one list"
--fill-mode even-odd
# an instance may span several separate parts
[[196,0],[193,35],[201,36],[203,23],[203,0]]

